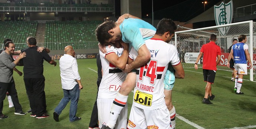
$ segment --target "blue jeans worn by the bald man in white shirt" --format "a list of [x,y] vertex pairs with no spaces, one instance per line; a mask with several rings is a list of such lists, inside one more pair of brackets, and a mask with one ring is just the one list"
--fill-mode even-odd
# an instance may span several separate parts
[[55,112],[60,115],[62,110],[66,107],[69,100],[71,100],[70,109],[69,109],[69,121],[73,122],[76,119],[76,111],[77,111],[77,105],[78,100],[80,96],[80,90],[78,84],[72,89],[72,90],[65,90],[64,91],[64,97],[60,100],[59,105],[55,108]]

